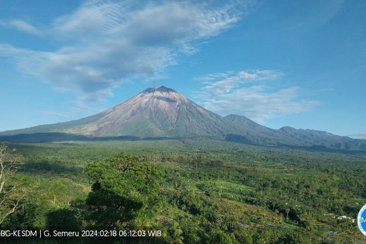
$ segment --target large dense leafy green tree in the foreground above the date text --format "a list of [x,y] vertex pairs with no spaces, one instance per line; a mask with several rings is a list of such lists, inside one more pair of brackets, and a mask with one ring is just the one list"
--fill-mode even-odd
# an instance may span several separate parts
[[100,227],[113,229],[151,219],[164,205],[159,195],[162,172],[151,162],[121,153],[91,163],[84,171],[94,181],[86,199],[90,220]]

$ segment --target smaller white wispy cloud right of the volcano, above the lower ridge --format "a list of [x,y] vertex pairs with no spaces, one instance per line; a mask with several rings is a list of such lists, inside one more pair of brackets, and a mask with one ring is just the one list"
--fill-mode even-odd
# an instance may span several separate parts
[[263,82],[282,76],[283,72],[278,70],[230,71],[202,76],[198,80],[205,80],[206,84],[209,80],[209,84],[202,87],[196,98],[213,112],[244,115],[258,123],[279,115],[304,112],[318,104],[301,99],[298,86],[273,91]]

